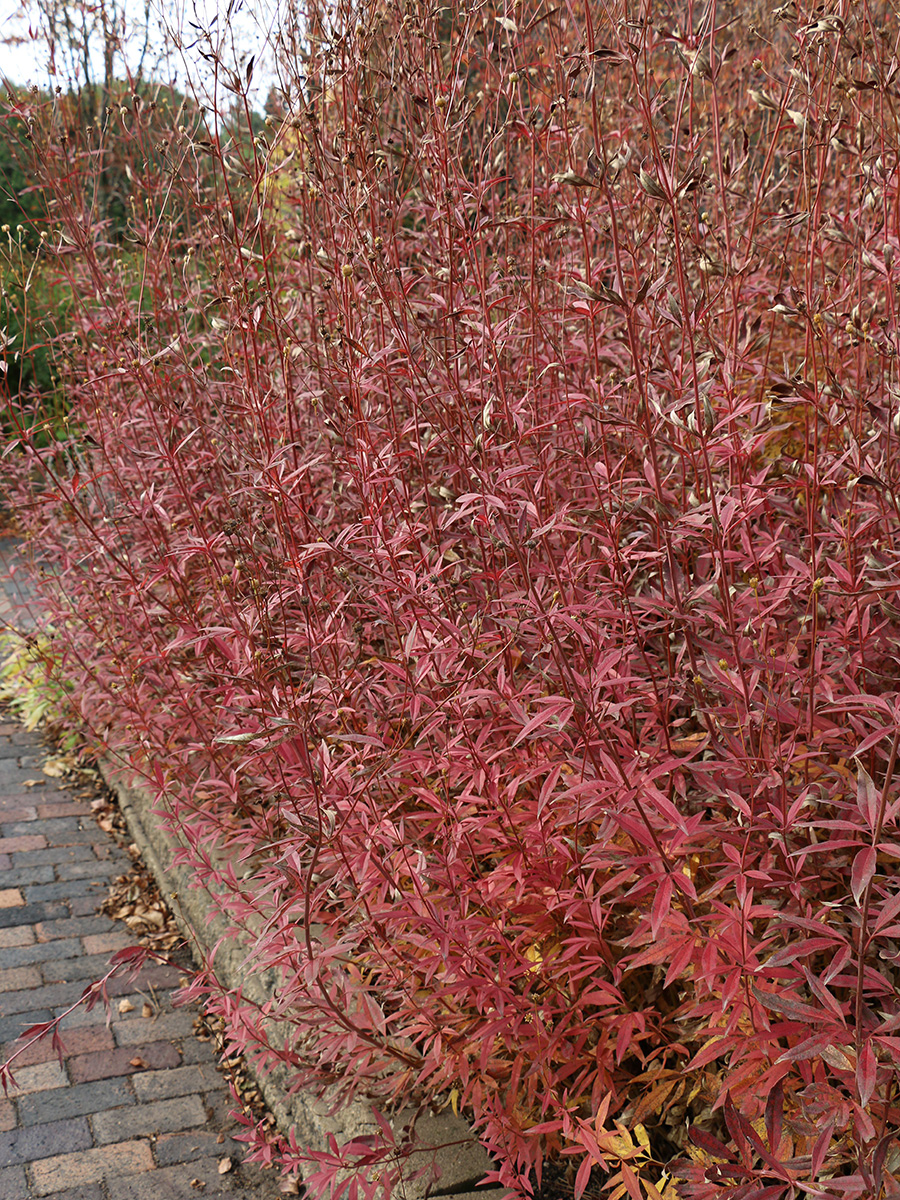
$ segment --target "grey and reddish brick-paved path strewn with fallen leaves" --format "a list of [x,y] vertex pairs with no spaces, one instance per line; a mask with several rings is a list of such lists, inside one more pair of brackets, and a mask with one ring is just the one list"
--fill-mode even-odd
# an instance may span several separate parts
[[[24,794],[46,754],[0,710],[0,1062],[24,1026],[60,1015],[133,944],[97,912],[131,858],[60,781],[46,779],[38,804]],[[178,978],[152,965],[112,979],[109,1024],[101,1007],[79,1008],[62,1026],[61,1063],[49,1039],[17,1060],[18,1086],[0,1091],[0,1200],[281,1194],[274,1172],[241,1163],[211,1045],[193,1034],[196,1010],[173,1008]],[[122,996],[130,1012],[119,1012]],[[234,1165],[220,1175],[224,1158]]]

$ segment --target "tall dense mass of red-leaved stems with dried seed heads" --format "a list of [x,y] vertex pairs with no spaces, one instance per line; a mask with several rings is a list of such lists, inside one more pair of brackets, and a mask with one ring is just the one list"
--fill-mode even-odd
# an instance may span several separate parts
[[[6,457],[59,666],[283,980],[194,991],[503,1184],[900,1195],[896,38],[312,0],[256,136],[224,66],[13,103],[77,296],[68,436]],[[364,1195],[384,1135],[251,1132]]]

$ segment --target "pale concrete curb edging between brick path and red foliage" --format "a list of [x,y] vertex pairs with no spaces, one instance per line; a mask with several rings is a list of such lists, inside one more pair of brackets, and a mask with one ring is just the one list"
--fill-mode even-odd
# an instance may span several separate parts
[[[181,932],[202,953],[210,953],[216,948],[216,976],[226,988],[241,989],[251,1002],[265,1003],[277,985],[275,973],[248,973],[245,970],[247,947],[227,938],[229,923],[218,910],[214,894],[205,886],[197,884],[196,874],[184,865],[174,864],[175,851],[185,844],[179,844],[162,827],[152,811],[155,802],[151,796],[130,780],[127,772],[108,762],[101,763],[101,770],[119,798],[131,836],[140,848],[161,893],[170,902]],[[172,902],[173,898],[176,898],[176,902]],[[298,1145],[326,1150],[329,1134],[342,1142],[377,1132],[371,1105],[361,1100],[329,1115],[326,1104],[308,1092],[289,1092],[286,1068],[276,1068],[265,1075],[252,1070],[252,1067],[251,1072],[278,1128],[284,1133],[293,1129]],[[408,1117],[400,1114],[392,1118],[392,1124],[400,1129]],[[422,1200],[425,1196],[502,1200],[506,1194],[502,1188],[472,1192],[492,1169],[492,1163],[462,1118],[450,1112],[420,1117],[416,1134],[422,1150],[410,1157],[410,1172],[426,1166],[431,1159],[434,1177],[430,1181],[428,1174],[424,1174],[421,1178],[404,1181],[400,1189],[401,1200]]]

